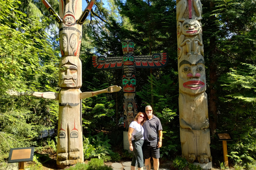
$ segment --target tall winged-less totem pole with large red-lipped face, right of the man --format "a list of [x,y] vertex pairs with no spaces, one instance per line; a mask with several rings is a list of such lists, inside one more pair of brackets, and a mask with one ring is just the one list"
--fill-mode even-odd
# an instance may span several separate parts
[[177,0],[179,114],[182,157],[212,161],[200,0]]

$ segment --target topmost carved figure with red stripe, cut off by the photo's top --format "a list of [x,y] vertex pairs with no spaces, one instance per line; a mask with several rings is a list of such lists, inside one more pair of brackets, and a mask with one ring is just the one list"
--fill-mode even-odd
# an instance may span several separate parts
[[177,21],[185,21],[186,19],[202,19],[202,4],[200,0],[177,0],[176,4]]

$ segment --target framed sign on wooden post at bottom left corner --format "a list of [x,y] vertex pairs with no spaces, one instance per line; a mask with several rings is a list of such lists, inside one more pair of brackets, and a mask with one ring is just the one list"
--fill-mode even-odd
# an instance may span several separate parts
[[24,170],[24,162],[33,161],[34,147],[11,148],[8,163],[19,163],[19,170]]

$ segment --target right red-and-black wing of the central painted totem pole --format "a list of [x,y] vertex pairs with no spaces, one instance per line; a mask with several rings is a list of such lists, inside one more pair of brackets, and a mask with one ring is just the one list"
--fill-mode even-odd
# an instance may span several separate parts
[[153,55],[138,55],[135,57],[136,68],[162,68],[168,63],[168,55],[155,53]]

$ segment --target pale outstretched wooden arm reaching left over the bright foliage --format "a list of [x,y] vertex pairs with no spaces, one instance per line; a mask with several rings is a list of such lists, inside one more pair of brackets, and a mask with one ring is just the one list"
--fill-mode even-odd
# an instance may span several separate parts
[[28,95],[28,96],[35,96],[35,97],[40,97],[40,98],[45,98],[45,99],[54,99],[58,100],[59,99],[59,93],[55,92],[18,92],[15,90],[8,90],[6,93],[12,96],[23,96],[23,95]]

